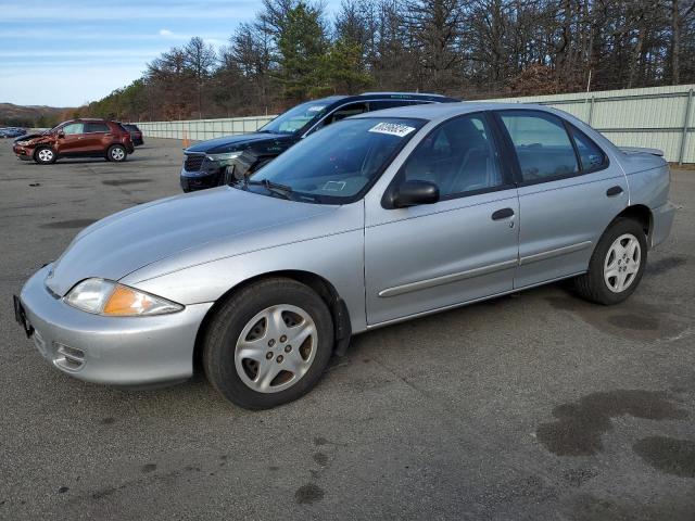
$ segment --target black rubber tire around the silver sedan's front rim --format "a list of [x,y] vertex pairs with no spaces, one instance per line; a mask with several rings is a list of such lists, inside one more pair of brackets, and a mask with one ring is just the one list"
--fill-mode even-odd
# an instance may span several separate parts
[[[309,368],[294,384],[263,393],[251,389],[237,371],[237,342],[258,313],[279,305],[296,306],[314,321],[316,352]],[[216,312],[204,338],[203,367],[207,380],[228,401],[247,409],[267,409],[299,398],[318,382],[330,360],[333,342],[331,314],[314,290],[292,279],[264,279],[232,294]],[[279,342],[276,347],[282,354]]]

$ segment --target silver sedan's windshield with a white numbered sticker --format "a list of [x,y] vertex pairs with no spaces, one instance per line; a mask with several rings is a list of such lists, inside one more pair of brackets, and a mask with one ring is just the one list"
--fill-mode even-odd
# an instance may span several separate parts
[[394,117],[344,119],[305,138],[254,173],[245,186],[287,199],[345,204],[361,199],[425,124]]

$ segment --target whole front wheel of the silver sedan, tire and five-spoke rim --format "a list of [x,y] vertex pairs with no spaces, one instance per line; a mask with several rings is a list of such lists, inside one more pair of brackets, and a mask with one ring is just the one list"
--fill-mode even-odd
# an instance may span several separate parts
[[218,309],[205,335],[203,366],[227,399],[265,409],[308,392],[332,347],[323,298],[300,282],[273,278],[243,288]]

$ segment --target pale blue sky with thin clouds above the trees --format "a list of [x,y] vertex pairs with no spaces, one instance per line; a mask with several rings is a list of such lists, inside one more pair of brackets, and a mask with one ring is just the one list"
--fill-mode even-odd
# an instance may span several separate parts
[[[340,0],[324,2],[329,13]],[[261,0],[0,0],[0,102],[78,106],[200,36],[227,43]]]

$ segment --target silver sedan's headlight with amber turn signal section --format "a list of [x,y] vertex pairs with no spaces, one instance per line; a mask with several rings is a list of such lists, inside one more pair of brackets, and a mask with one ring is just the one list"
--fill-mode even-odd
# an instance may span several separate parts
[[184,306],[161,296],[104,279],[86,279],[63,297],[66,304],[83,312],[111,317],[164,315]]

